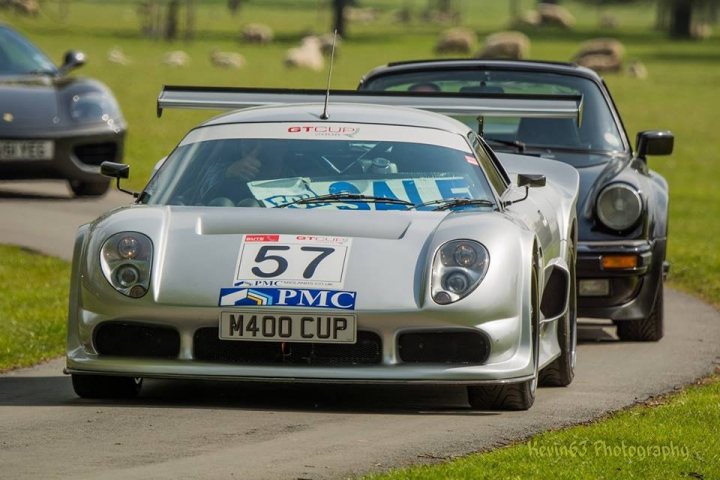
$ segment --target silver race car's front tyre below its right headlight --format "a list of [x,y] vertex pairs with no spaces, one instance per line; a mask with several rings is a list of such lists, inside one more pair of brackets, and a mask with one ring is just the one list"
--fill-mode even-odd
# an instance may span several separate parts
[[532,349],[535,364],[533,378],[519,383],[469,386],[468,402],[474,410],[528,410],[535,403],[540,361],[540,296],[536,268],[533,268],[532,271],[531,295]]

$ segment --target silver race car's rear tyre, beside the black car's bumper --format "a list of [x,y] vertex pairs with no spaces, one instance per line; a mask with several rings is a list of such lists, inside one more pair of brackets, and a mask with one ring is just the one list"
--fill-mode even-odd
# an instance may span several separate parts
[[571,245],[570,299],[568,311],[558,324],[558,343],[560,356],[540,371],[540,386],[567,387],[575,378],[575,358],[577,348],[577,290],[575,275],[575,249]]

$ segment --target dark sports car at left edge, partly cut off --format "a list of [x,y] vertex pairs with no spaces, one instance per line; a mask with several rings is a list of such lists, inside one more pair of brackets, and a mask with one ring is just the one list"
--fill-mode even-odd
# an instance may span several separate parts
[[126,125],[105,85],[67,76],[84,63],[69,51],[58,68],[0,24],[0,179],[64,178],[78,196],[107,191],[100,164],[121,161]]

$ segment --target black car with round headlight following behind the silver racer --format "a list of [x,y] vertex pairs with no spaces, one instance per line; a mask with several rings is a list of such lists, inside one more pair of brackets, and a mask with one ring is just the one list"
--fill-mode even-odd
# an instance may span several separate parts
[[[648,167],[648,155],[669,155],[673,135],[645,131],[635,151],[605,82],[567,63],[431,60],[391,63],[368,73],[360,90],[532,95],[552,101],[582,96],[582,118],[467,118],[496,150],[551,158],[580,172],[578,197],[578,316],[609,318],[623,340],[663,336],[663,280],[668,185]],[[434,93],[433,93],[434,92]]]

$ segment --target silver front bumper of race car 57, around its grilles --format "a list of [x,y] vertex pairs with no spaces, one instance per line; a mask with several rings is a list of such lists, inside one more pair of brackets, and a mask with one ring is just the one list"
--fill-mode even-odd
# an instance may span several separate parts
[[[358,332],[372,332],[381,339],[381,354],[373,365],[243,364],[197,358],[199,330],[218,326],[217,309],[163,309],[161,317],[142,320],[130,315],[108,318],[84,311],[69,325],[67,373],[123,375],[149,378],[191,378],[238,381],[282,381],[312,383],[440,383],[485,384],[522,382],[532,378],[529,335],[523,335],[517,317],[491,320],[480,325],[471,315],[439,315],[438,312],[356,311]],[[204,318],[204,320],[199,320]],[[172,319],[172,320],[170,320]],[[172,358],[104,355],[98,353],[95,331],[111,322],[162,326],[176,330],[178,354]],[[411,363],[402,360],[399,339],[405,333],[467,332],[488,339],[490,349],[482,364]],[[247,342],[231,341],[243,348]],[[280,347],[278,347],[280,348]]]

